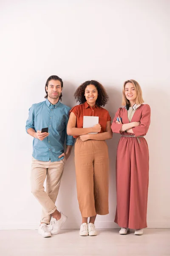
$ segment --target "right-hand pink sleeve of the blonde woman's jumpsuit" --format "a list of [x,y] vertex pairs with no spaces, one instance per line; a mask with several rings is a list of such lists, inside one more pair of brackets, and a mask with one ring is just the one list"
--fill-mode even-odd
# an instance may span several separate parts
[[150,125],[150,106],[145,104],[142,109],[140,125],[132,128],[136,137],[147,134]]

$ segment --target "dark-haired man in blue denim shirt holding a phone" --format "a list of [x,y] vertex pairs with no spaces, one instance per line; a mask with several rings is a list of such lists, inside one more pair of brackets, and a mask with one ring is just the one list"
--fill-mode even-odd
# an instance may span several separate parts
[[[38,230],[43,237],[59,233],[67,220],[67,216],[55,206],[65,161],[74,145],[73,137],[66,132],[70,108],[60,102],[62,88],[62,79],[50,76],[45,84],[46,100],[32,105],[26,121],[26,131],[34,137],[31,192],[43,207]],[[48,132],[41,132],[42,128],[48,128]],[[67,147],[64,152],[65,138]],[[46,177],[45,192],[43,184]],[[50,221],[52,229],[48,226]]]

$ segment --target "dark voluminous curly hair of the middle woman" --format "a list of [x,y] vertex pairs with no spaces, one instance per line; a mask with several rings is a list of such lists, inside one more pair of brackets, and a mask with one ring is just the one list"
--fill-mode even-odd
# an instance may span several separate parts
[[85,81],[84,83],[79,85],[79,87],[77,88],[77,90],[74,93],[76,102],[79,102],[79,105],[86,102],[84,94],[85,94],[85,88],[89,84],[93,84],[97,89],[98,96],[96,99],[96,105],[99,107],[105,106],[108,102],[109,96],[106,93],[105,88],[102,86],[102,84],[100,84],[98,81],[95,81],[95,80]]

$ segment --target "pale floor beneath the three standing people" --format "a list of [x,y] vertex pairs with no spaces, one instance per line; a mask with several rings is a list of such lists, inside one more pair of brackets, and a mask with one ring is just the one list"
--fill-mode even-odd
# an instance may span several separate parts
[[43,238],[37,230],[0,230],[0,256],[170,256],[170,229],[145,229],[143,236],[97,232],[79,236],[79,230],[61,230]]

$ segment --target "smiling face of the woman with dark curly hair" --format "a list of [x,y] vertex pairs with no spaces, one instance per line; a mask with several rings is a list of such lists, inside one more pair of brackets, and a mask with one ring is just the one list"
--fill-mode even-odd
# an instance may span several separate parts
[[96,99],[98,96],[98,92],[96,87],[93,84],[89,84],[85,88],[85,99],[90,106],[94,106],[96,104]]

